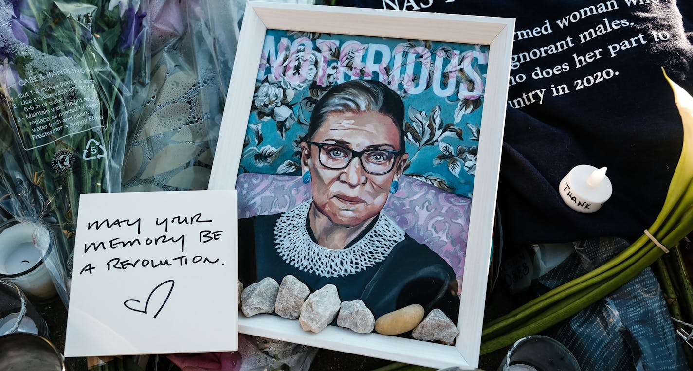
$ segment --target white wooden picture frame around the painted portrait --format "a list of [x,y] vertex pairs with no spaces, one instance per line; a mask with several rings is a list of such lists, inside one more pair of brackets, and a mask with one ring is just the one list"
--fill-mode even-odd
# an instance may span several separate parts
[[[328,326],[305,332],[297,320],[240,315],[238,332],[434,368],[476,368],[491,255],[514,19],[329,6],[247,3],[209,189],[234,188],[267,29],[391,37],[489,46],[455,345]],[[243,248],[239,244],[239,248]],[[229,288],[236,284],[229,282]]]

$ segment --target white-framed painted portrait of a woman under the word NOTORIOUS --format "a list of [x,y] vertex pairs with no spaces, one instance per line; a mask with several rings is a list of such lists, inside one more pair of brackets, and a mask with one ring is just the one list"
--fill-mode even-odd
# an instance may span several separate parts
[[239,332],[477,367],[513,32],[495,17],[247,3],[209,182],[238,190],[239,279],[333,284],[395,325],[403,308],[439,309],[459,334],[336,319],[313,332],[277,314],[240,314]]

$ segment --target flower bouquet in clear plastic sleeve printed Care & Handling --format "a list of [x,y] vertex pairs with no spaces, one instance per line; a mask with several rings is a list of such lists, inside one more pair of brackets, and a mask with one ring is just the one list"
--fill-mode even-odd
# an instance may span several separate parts
[[[65,256],[80,193],[120,190],[125,107],[146,57],[141,5],[0,0],[2,205],[54,224]],[[67,302],[67,282],[56,283]]]

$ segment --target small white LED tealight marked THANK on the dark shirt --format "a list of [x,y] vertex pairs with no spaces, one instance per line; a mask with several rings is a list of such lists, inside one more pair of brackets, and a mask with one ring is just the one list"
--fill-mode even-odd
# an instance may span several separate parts
[[586,214],[595,212],[611,197],[611,181],[606,168],[577,165],[563,177],[559,193],[565,204]]

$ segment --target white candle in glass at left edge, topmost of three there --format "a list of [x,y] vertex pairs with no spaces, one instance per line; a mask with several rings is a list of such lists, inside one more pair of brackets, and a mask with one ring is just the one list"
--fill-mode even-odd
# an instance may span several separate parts
[[55,296],[51,272],[44,264],[53,253],[46,227],[10,219],[0,224],[0,278],[15,282],[30,296],[46,300]]

